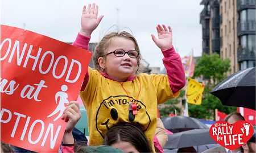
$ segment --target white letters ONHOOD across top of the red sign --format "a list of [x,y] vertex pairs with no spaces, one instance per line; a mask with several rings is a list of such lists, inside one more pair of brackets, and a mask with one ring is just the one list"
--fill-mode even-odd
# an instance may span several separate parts
[[[17,54],[17,61],[16,62],[17,62],[17,65],[20,66],[20,64],[23,61],[23,56],[24,56],[24,53],[26,52],[28,44],[24,43],[22,52],[20,52],[20,43],[19,43],[18,40],[15,41],[13,46],[12,46],[12,44],[13,44],[13,42],[11,41],[10,38],[6,38],[6,39],[3,40],[3,42],[1,43],[1,48],[0,48],[0,51],[1,51],[0,60],[1,61],[5,60],[7,58],[7,56],[9,56],[9,54],[10,54],[8,62],[11,63],[11,60],[13,59],[14,53],[16,51],[16,54]],[[2,48],[3,48],[4,45],[6,45],[6,48],[8,46],[6,51],[2,51]],[[13,48],[13,49],[11,49],[11,48]],[[55,60],[54,53],[52,51],[46,51],[46,52],[43,53],[41,59],[39,59],[40,54],[42,52],[42,48],[38,49],[36,56],[32,56],[31,55],[32,49],[33,49],[33,46],[30,45],[30,47],[28,48],[28,51],[27,51],[26,59],[25,59],[24,64],[23,64],[24,68],[27,67],[28,60],[30,60],[30,61],[34,60],[32,71],[35,71],[36,65],[39,62],[38,70],[39,70],[40,73],[46,74],[49,71],[52,71],[52,76],[55,77],[55,78],[62,78],[64,76],[65,72],[67,71],[68,63],[69,63],[67,57],[62,55],[62,56],[57,57],[57,59]],[[36,51],[33,51],[32,53],[35,54],[35,52]],[[48,61],[45,62],[45,59],[51,59],[51,60],[49,62]],[[60,62],[61,63],[64,62],[64,65],[63,64],[59,64]],[[44,63],[48,64],[48,67],[45,70],[42,69],[42,66],[46,67],[46,65]],[[73,80],[72,80],[70,78],[70,75],[71,75],[71,72],[72,72],[72,68],[74,67],[74,64],[76,64],[79,68],[78,68],[76,77],[73,78]],[[56,74],[57,67],[58,68],[63,67],[63,70],[60,73],[60,75]],[[65,81],[69,82],[69,83],[76,82],[78,80],[79,76],[80,76],[81,69],[82,69],[81,63],[79,61],[77,61],[77,60],[72,59],[70,65],[69,65],[69,68],[68,68],[67,76],[65,77]],[[72,72],[72,74],[74,74],[74,72]]]

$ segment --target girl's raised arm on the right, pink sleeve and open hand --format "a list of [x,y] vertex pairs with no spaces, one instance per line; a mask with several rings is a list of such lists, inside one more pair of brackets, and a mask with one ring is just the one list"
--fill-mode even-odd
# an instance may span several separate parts
[[163,24],[163,26],[156,27],[156,31],[158,32],[158,39],[155,38],[153,34],[151,34],[152,40],[155,42],[156,46],[158,46],[163,55],[163,64],[166,68],[168,81],[170,83],[172,93],[179,92],[185,86],[185,72],[183,68],[183,64],[181,62],[179,54],[175,52],[174,47],[172,46],[172,30],[171,27],[167,27]]

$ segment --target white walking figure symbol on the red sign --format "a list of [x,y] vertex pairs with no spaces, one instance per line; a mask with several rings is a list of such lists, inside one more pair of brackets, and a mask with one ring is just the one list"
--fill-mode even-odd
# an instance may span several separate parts
[[57,92],[55,94],[55,102],[57,104],[57,102],[59,101],[56,109],[47,116],[48,117],[51,117],[55,114],[57,114],[59,112],[59,115],[57,115],[57,117],[55,119],[53,119],[53,122],[56,121],[57,119],[59,119],[61,117],[61,115],[63,114],[63,111],[65,110],[65,104],[68,104],[68,94],[65,93],[67,92],[68,90],[68,86],[67,85],[62,85],[61,86],[61,91],[60,92]]

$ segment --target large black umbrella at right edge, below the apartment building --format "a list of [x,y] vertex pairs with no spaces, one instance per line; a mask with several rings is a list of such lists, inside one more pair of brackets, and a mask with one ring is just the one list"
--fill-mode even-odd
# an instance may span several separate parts
[[255,109],[255,67],[244,69],[225,78],[210,92],[223,105]]

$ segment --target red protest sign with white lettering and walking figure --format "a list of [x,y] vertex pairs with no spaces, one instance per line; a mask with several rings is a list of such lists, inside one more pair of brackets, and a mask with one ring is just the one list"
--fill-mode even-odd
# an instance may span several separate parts
[[1,141],[57,152],[92,53],[20,28],[1,25]]

